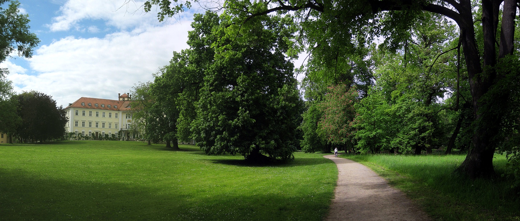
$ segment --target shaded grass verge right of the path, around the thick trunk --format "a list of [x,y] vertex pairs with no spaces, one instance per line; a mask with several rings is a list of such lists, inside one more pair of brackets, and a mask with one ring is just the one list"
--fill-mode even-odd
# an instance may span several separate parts
[[[520,197],[504,180],[452,176],[465,155],[341,155],[368,166],[435,220],[520,220]],[[506,159],[493,164],[503,173]]]

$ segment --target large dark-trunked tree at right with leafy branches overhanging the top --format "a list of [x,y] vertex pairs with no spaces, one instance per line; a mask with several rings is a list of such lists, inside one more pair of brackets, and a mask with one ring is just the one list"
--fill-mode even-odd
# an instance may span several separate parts
[[[172,7],[172,2],[150,0],[145,4],[145,10],[149,11],[151,5],[158,4],[161,6],[158,16],[163,19],[190,6],[179,5],[175,1],[177,4]],[[397,46],[403,42],[403,37],[407,36],[411,25],[420,19],[423,11],[452,19],[460,30],[473,114],[478,122],[473,135],[473,148],[460,165],[459,172],[472,178],[495,175],[492,159],[499,141],[496,138],[502,118],[508,112],[506,101],[513,95],[494,88],[506,86],[501,81],[506,75],[518,74],[515,70],[503,72],[506,69],[498,69],[502,63],[509,61],[506,57],[511,56],[515,48],[518,49],[514,45],[517,0],[483,0],[478,5],[471,0],[233,0],[227,1],[224,7],[236,15],[233,21],[237,26],[274,11],[294,15],[300,21],[297,24],[301,28],[297,40],[309,45],[313,54],[345,50],[355,52],[359,43],[370,41],[375,36],[385,36],[389,46]]]

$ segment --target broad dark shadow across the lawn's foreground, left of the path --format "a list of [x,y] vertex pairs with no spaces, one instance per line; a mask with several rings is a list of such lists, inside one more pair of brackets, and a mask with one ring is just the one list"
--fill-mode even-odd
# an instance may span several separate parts
[[168,191],[171,187],[132,184],[139,180],[97,179],[0,168],[0,220],[320,220],[330,202],[327,192],[308,199],[277,191],[210,191],[214,183]]

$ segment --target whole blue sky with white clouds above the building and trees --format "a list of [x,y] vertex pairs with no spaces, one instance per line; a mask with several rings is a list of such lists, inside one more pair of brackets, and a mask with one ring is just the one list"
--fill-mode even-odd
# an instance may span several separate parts
[[168,64],[173,51],[188,47],[193,13],[204,12],[194,5],[158,22],[154,12],[140,10],[144,0],[19,2],[41,43],[32,58],[13,53],[0,67],[9,69],[7,79],[16,92],[37,90],[63,106],[80,97],[117,99],[138,82],[153,81],[152,74]]

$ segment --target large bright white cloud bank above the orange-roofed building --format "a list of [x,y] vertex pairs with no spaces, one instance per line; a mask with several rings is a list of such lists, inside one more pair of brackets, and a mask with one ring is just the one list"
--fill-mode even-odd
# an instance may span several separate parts
[[58,105],[67,106],[80,97],[116,99],[135,83],[153,80],[151,74],[168,64],[174,50],[188,47],[190,23],[115,32],[103,38],[61,38],[41,46],[28,59],[36,75],[25,74],[10,61],[2,65],[14,67],[7,78],[17,92],[38,90],[53,96]]

